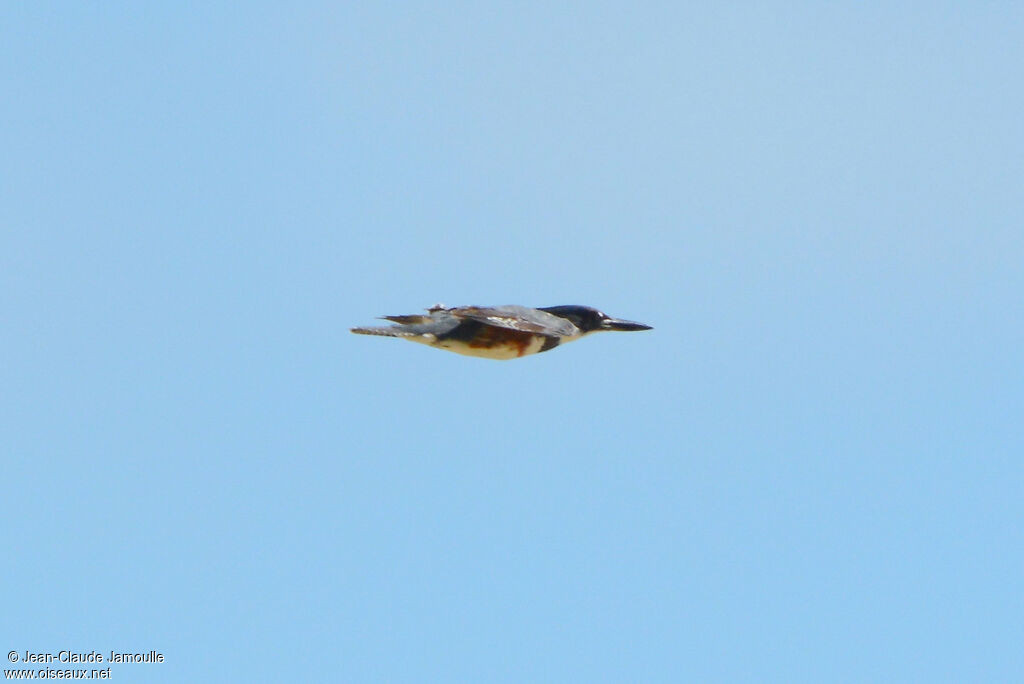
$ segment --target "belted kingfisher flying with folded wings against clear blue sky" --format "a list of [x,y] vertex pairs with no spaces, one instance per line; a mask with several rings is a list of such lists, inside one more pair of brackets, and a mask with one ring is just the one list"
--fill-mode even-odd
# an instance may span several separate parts
[[455,306],[437,304],[427,314],[385,315],[397,326],[353,328],[358,335],[400,337],[468,356],[508,359],[554,349],[604,330],[650,330],[589,306]]

